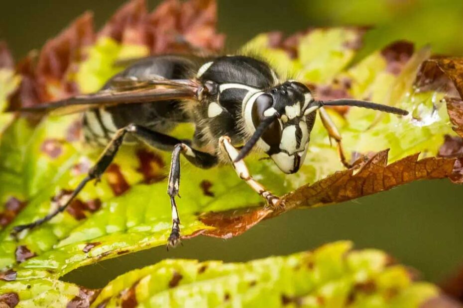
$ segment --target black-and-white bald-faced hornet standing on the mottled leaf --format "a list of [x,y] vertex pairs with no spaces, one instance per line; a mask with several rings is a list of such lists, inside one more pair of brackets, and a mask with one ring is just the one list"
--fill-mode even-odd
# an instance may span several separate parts
[[[348,167],[341,136],[323,106],[357,106],[408,114],[368,101],[315,100],[306,85],[296,80],[280,80],[267,63],[252,57],[142,59],[94,94],[21,110],[82,112],[85,140],[107,146],[64,204],[40,220],[14,227],[13,232],[37,227],[64,211],[89,181],[105,172],[120,145],[129,140],[172,152],[167,189],[172,207],[170,246],[180,239],[175,203],[180,189],[180,154],[200,168],[232,163],[237,175],[268,206],[282,206],[277,196],[252,178],[243,158],[260,150],[284,173],[297,172],[307,154],[318,110],[330,137],[338,142],[342,162]],[[177,124],[184,122],[195,125],[193,138],[179,140],[169,136]]]

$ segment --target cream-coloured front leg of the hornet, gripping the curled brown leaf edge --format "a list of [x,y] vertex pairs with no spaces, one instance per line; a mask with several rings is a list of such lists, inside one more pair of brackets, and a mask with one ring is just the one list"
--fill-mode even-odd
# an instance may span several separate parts
[[238,156],[238,150],[232,145],[232,140],[230,137],[222,136],[219,139],[219,144],[220,148],[223,149],[225,153],[227,153],[227,157],[229,158],[230,162],[232,162],[233,168],[236,171],[236,174],[238,174],[239,178],[244,180],[247,185],[249,185],[256,193],[265,198],[270,208],[277,209],[284,206],[279,197],[273,195],[270,191],[266,190],[262,184],[252,178],[243,159],[234,162]]

